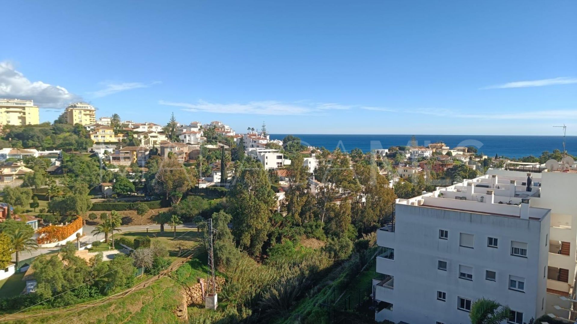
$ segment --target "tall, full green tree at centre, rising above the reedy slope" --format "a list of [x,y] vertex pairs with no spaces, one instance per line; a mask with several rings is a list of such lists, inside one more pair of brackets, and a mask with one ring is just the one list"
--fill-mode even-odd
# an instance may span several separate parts
[[260,163],[251,161],[241,171],[228,191],[227,204],[239,246],[251,255],[261,253],[271,231],[271,210],[276,206],[276,197]]

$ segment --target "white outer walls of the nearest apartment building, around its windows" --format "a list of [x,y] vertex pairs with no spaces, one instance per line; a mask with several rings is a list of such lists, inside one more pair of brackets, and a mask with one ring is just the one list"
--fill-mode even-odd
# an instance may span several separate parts
[[[448,240],[439,239],[439,229],[449,231]],[[475,235],[474,248],[459,246],[461,232]],[[460,296],[497,300],[522,311],[523,321],[529,322],[544,314],[548,233],[549,214],[536,221],[396,204],[395,233],[377,231],[379,245],[394,242],[394,261],[377,258],[377,271],[395,276],[394,307],[381,311],[377,318],[469,323],[469,313],[457,309]],[[487,246],[489,236],[499,239],[498,248]],[[527,243],[527,258],[510,255],[511,240]],[[448,262],[447,271],[437,270],[439,260]],[[459,265],[473,268],[473,281],[458,278]],[[496,281],[485,280],[485,270],[495,271]],[[508,289],[509,275],[525,278],[524,292]],[[436,299],[437,291],[447,293],[446,302]]]

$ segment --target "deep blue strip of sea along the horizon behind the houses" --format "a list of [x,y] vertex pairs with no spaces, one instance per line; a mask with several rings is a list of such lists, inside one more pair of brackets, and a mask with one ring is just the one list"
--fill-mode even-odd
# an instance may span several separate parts
[[[271,140],[282,140],[287,134],[271,134]],[[359,148],[363,152],[372,149],[388,149],[391,146],[410,145],[412,135],[337,135],[337,134],[292,134],[301,138],[302,144],[324,147],[328,150],[340,148],[351,152]],[[419,146],[444,142],[450,148],[473,145],[479,153],[488,156],[540,156],[545,150],[563,150],[563,136],[534,135],[415,135]],[[567,153],[577,155],[577,136],[567,136]]]

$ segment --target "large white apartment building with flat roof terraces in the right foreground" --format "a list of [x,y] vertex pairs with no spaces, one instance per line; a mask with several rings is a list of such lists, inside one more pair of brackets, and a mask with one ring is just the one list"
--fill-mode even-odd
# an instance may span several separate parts
[[538,196],[485,175],[396,199],[394,222],[377,231],[375,319],[470,323],[481,297],[508,305],[509,323],[545,314],[551,210],[533,206]]

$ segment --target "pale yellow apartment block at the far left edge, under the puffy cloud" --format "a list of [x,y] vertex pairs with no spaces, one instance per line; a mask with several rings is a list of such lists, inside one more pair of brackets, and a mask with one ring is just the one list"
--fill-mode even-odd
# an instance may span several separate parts
[[32,100],[0,99],[0,125],[38,125],[40,112]]

